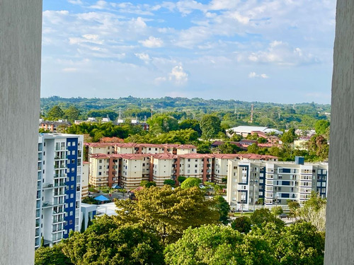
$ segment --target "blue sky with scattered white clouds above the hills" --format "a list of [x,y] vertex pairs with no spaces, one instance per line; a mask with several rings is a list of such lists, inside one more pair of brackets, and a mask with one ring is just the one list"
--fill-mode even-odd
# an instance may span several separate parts
[[43,0],[41,96],[331,102],[335,0]]

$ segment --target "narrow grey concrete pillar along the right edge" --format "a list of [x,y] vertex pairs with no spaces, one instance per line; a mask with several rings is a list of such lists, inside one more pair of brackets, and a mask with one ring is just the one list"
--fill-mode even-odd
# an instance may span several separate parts
[[325,264],[354,264],[354,1],[338,0]]

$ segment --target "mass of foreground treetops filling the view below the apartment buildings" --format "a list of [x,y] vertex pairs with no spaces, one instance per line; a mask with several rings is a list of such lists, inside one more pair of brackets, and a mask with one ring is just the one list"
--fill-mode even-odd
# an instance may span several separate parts
[[[98,217],[86,231],[40,247],[35,265],[323,264],[324,233],[316,226],[285,226],[266,209],[222,225],[219,213],[229,209],[220,198],[206,200],[198,187],[145,187],[137,201],[116,202],[118,216]],[[309,206],[324,202],[314,196]]]

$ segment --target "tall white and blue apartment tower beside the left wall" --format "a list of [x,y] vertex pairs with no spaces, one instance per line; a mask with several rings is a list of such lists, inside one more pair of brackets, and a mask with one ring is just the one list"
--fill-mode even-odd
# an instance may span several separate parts
[[40,134],[35,247],[54,245],[81,225],[81,168],[84,137]]

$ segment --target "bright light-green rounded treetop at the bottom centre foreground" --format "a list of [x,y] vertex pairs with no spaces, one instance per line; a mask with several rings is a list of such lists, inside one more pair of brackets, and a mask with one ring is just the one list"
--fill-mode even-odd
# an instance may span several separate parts
[[278,264],[265,240],[242,235],[229,226],[188,228],[164,251],[166,264]]

